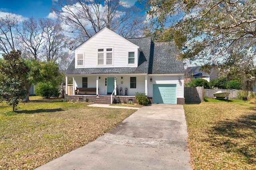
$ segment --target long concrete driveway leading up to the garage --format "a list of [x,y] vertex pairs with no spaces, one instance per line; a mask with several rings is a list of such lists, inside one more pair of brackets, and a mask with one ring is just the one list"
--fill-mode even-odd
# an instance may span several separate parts
[[36,170],[192,170],[186,138],[183,105],[153,104]]

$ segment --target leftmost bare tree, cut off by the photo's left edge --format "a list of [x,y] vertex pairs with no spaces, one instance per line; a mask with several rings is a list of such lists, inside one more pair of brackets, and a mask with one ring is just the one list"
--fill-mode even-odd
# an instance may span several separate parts
[[8,14],[0,17],[0,52],[6,55],[10,51],[17,49],[16,43],[16,27],[18,26],[19,19],[15,14]]

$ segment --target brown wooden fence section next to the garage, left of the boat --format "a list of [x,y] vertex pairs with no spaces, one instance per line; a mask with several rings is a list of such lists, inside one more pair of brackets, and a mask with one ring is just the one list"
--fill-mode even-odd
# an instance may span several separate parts
[[204,101],[204,87],[184,87],[185,102]]

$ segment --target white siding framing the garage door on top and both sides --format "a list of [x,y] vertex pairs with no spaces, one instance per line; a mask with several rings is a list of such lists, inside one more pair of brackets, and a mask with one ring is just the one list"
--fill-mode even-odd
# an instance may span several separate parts
[[[152,82],[150,82],[152,77]],[[180,77],[180,82],[178,78]],[[184,97],[184,76],[148,76],[148,97],[153,97],[153,84],[176,84],[177,98]]]

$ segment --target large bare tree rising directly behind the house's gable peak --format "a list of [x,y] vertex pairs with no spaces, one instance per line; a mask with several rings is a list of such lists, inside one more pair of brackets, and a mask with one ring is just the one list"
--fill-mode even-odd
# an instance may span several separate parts
[[[142,35],[140,9],[122,6],[120,0],[58,0],[54,12],[64,21],[64,28],[81,43],[104,27],[124,38]],[[61,10],[60,10],[61,9]]]

